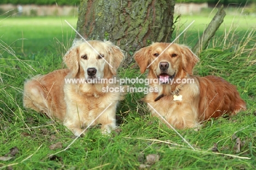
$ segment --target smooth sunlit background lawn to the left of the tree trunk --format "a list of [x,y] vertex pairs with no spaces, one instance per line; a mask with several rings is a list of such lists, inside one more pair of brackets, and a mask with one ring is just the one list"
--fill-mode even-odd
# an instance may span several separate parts
[[75,17],[0,18],[0,37],[18,55],[31,56],[52,52],[56,50],[56,45],[57,48],[61,46],[60,43],[66,45],[75,36],[65,20],[76,28]]

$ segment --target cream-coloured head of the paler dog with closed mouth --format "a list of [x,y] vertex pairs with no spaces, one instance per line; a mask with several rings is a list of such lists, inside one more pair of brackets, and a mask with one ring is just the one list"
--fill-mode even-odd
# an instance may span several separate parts
[[124,53],[111,42],[74,40],[63,57],[72,76],[88,79],[111,78],[123,61]]

